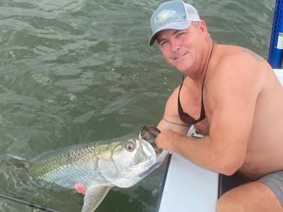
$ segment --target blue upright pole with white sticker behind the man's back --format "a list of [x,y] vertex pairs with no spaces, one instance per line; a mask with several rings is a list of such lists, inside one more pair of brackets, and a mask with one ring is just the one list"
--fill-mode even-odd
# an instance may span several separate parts
[[277,0],[270,38],[268,62],[273,69],[282,68],[283,59],[283,0]]

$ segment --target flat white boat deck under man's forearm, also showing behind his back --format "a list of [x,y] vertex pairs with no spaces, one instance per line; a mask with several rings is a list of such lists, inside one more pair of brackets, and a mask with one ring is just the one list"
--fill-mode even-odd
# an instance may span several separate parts
[[[283,85],[283,69],[274,71]],[[173,153],[158,212],[214,212],[218,177]]]

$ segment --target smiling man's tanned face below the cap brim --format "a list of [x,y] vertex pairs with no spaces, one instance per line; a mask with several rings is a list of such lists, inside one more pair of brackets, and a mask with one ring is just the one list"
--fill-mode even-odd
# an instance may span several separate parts
[[202,29],[191,24],[185,30],[163,30],[156,40],[166,61],[187,73],[200,62],[203,37]]

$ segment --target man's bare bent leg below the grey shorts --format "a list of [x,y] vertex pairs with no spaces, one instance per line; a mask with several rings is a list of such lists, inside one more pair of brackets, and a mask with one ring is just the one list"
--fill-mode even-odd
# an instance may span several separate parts
[[249,182],[226,192],[217,203],[217,212],[282,212],[277,196],[262,182]]

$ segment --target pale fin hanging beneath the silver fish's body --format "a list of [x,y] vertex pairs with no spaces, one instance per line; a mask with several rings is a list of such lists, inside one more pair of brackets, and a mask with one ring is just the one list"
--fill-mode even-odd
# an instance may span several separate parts
[[89,187],[84,196],[83,209],[81,212],[93,212],[96,210],[110,189],[111,187],[105,184]]

